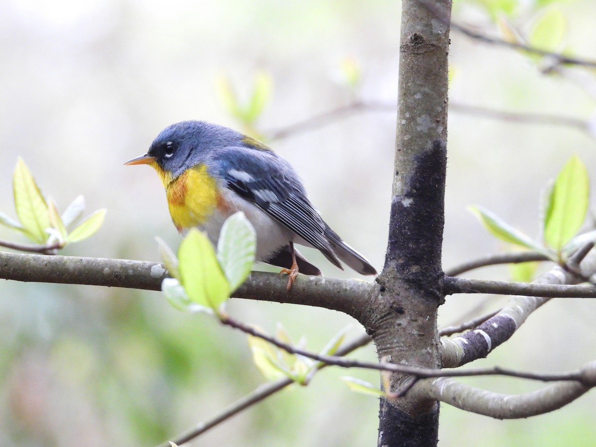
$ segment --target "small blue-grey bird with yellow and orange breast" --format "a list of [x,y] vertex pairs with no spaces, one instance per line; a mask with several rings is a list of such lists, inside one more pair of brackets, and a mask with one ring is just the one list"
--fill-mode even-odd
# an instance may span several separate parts
[[184,235],[197,227],[217,244],[225,220],[244,212],[256,232],[255,258],[281,267],[289,291],[300,272],[322,275],[294,247],[318,249],[338,268],[377,271],[346,244],[311,204],[296,170],[259,140],[215,123],[188,120],[167,126],[146,154],[125,165],[148,164],[166,190],[172,222]]

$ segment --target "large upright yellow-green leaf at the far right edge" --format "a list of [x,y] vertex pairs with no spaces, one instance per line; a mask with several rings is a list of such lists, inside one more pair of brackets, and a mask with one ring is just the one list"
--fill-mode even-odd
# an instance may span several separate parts
[[544,240],[557,253],[582,225],[589,204],[588,170],[572,156],[555,179],[544,216]]

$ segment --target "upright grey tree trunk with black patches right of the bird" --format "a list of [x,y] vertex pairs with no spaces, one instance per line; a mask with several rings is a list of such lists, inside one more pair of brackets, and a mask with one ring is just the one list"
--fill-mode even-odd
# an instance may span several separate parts
[[[450,11],[451,0],[433,0]],[[380,288],[361,321],[380,359],[440,368],[449,27],[420,0],[403,0],[395,172]],[[409,378],[393,374],[391,389]],[[436,445],[438,403],[418,393],[381,399],[378,445]]]

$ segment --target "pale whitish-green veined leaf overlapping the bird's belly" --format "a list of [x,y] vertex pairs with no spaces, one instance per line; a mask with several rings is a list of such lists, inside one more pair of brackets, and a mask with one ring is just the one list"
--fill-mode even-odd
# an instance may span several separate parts
[[224,222],[218,240],[218,260],[235,291],[249,276],[256,252],[256,233],[243,212],[237,212]]

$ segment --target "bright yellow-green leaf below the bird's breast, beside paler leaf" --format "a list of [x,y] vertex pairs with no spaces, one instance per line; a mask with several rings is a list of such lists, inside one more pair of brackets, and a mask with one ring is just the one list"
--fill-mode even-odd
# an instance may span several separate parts
[[207,235],[191,228],[178,248],[178,274],[188,297],[201,306],[219,306],[229,297],[229,283]]

